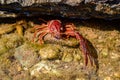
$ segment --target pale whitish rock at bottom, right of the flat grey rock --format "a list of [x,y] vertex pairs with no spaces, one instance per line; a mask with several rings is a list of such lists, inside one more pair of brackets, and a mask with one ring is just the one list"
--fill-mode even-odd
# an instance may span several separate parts
[[30,74],[36,77],[40,77],[42,74],[60,76],[61,73],[56,68],[57,65],[51,64],[49,61],[41,61],[30,69]]

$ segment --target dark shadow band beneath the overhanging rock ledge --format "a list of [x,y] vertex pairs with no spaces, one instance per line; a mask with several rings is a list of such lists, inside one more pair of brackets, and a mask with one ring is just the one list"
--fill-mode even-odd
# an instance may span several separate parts
[[[118,30],[120,31],[120,19],[114,19],[114,20],[105,20],[105,19],[79,19],[79,18],[65,18],[65,17],[58,17],[58,16],[33,16],[33,17],[17,17],[17,18],[0,18],[0,24],[1,23],[15,23],[20,20],[26,20],[26,21],[33,21],[36,24],[44,23],[42,20],[39,20],[39,18],[42,18],[46,21],[52,20],[52,19],[59,19],[62,21],[63,25],[66,23],[74,23],[77,25],[83,25],[90,28],[99,29],[102,31],[112,31],[112,30]],[[65,24],[64,24],[65,23]]]

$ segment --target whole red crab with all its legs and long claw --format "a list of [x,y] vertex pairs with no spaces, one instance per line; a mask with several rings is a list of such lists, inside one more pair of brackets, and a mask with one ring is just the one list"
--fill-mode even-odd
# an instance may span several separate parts
[[86,39],[76,30],[76,26],[73,23],[66,24],[62,26],[62,22],[60,20],[50,20],[47,24],[37,25],[34,27],[35,33],[34,37],[38,36],[40,44],[44,43],[44,36],[47,34],[51,34],[52,37],[57,39],[59,38],[69,38],[74,37],[79,40],[80,49],[85,57],[85,66],[88,65],[88,59],[90,60],[91,65],[93,65],[93,59],[90,55],[90,51],[88,48],[88,44]]

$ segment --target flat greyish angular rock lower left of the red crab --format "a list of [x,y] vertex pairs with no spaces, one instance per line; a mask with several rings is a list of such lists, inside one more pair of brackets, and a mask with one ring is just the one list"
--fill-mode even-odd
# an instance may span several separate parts
[[30,43],[25,43],[16,48],[14,56],[25,68],[33,66],[40,60],[36,49]]

